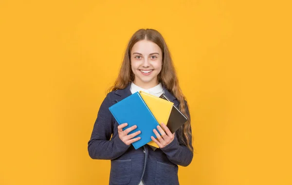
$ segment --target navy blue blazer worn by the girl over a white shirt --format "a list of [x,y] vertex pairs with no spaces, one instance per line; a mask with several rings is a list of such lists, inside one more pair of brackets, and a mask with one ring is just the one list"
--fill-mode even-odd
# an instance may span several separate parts
[[[165,87],[164,93],[179,106],[179,101]],[[88,142],[90,157],[111,160],[109,185],[138,185],[142,178],[145,185],[179,185],[178,165],[188,166],[193,159],[193,152],[181,142],[181,129],[176,131],[170,144],[155,151],[148,145],[135,149],[119,138],[119,124],[109,107],[131,94],[128,85],[123,90],[108,93],[103,100]],[[186,111],[190,116],[188,108]]]

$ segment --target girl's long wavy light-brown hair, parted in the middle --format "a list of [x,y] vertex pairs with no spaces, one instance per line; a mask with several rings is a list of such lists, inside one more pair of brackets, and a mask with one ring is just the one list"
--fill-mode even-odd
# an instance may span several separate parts
[[[162,83],[162,85],[171,92],[180,102],[180,111],[183,112],[184,115],[187,116],[186,106],[188,103],[184,101],[186,98],[183,95],[183,92],[179,86],[179,81],[176,75],[176,71],[170,56],[170,52],[168,47],[164,41],[162,35],[154,30],[154,29],[140,29],[134,33],[134,35],[130,38],[128,42],[128,46],[125,52],[124,60],[122,66],[120,68],[120,73],[117,79],[114,82],[114,85],[111,86],[108,92],[125,89],[130,82],[134,81],[135,75],[131,70],[131,49],[134,44],[140,40],[149,40],[157,44],[162,50],[162,70],[158,74],[158,82]],[[188,117],[188,121],[183,124],[180,128],[182,131],[180,133],[180,137],[183,138],[182,142],[185,146],[187,146],[192,152],[193,147],[190,145],[191,140],[191,127],[190,127],[190,117]]]

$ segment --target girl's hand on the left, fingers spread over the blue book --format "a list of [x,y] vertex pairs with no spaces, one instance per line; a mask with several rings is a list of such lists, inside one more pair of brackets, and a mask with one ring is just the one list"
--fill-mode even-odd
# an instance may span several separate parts
[[[128,129],[125,129],[125,130],[123,131],[123,128],[126,127],[127,125],[128,125],[128,123],[123,123],[123,124],[119,125],[119,126],[118,126],[118,133],[119,133],[119,137],[120,137],[120,139],[121,139],[126,145],[130,145],[130,144],[132,144],[132,143],[134,143],[134,142],[136,142],[136,141],[138,141],[138,140],[141,139],[141,137],[133,138],[133,137],[135,137],[136,135],[140,134],[141,131],[139,130],[139,131],[136,131],[136,132],[131,133],[130,135],[128,135],[128,133],[129,133],[130,131],[136,129],[137,126],[134,125],[134,126],[128,128]],[[132,139],[132,138],[133,138],[133,139]]]

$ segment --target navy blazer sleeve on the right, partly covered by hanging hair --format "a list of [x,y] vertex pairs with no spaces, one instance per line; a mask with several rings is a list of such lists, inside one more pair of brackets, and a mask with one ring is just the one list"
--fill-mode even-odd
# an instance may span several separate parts
[[[186,101],[186,113],[190,119],[189,109],[187,107]],[[175,137],[171,143],[166,145],[164,148],[160,148],[167,156],[167,158],[174,164],[180,166],[188,166],[193,159],[193,152],[182,143],[182,138],[179,137],[182,132],[181,128],[178,129],[175,133]],[[192,137],[189,142],[192,147]],[[192,147],[193,148],[193,147]]]

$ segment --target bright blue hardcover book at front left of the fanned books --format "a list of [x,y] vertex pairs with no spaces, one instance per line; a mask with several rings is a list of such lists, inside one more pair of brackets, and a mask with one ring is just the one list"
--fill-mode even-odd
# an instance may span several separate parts
[[135,149],[138,149],[152,141],[151,136],[157,138],[153,132],[153,129],[156,129],[161,135],[157,129],[159,123],[147,107],[139,92],[135,92],[117,102],[112,105],[109,110],[119,125],[128,123],[127,127],[124,127],[123,130],[128,129],[133,125],[137,125],[137,128],[130,131],[128,135],[141,130],[140,134],[133,137],[141,137],[140,140],[132,143]]

